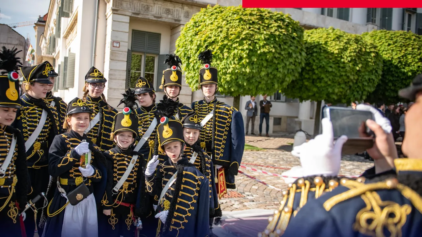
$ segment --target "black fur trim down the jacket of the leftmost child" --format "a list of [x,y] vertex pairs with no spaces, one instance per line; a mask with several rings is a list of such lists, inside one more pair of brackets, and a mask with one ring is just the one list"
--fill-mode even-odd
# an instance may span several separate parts
[[11,126],[5,126],[7,133],[14,134],[16,137],[16,147],[18,148],[18,157],[16,157],[16,175],[18,177],[18,183],[16,184],[16,200],[19,202],[19,208],[25,208],[27,203],[27,193],[30,188],[30,178],[27,168],[27,154],[25,151],[25,140],[19,129]]

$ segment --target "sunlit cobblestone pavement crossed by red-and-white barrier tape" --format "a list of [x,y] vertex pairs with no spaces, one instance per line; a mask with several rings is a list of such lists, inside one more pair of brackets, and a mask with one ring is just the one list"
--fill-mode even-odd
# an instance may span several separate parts
[[[265,168],[255,165],[245,165],[258,170],[268,171],[270,173],[281,174],[286,169],[300,165],[298,157],[294,157],[291,151],[292,138],[274,138],[246,136],[246,143],[252,146],[265,148],[262,151],[245,151],[242,162],[256,165],[266,165],[275,168]],[[373,166],[372,161],[365,160],[359,156],[344,156],[341,161],[340,175],[354,176],[360,175],[364,170]],[[253,176],[265,183],[275,186],[279,189],[286,189],[287,184],[280,177],[269,176],[257,173],[245,168],[240,168],[250,176]],[[220,200],[222,210],[234,211],[253,208],[276,209],[279,208],[281,192],[272,189],[264,184],[238,174],[235,179],[236,189],[229,189],[229,194]]]

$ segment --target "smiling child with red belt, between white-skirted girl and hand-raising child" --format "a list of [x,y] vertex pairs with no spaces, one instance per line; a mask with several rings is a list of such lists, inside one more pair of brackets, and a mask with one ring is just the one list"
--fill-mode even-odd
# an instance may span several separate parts
[[[148,211],[144,202],[145,192],[138,192],[145,189],[145,164],[141,152],[135,151],[132,146],[138,134],[138,116],[134,108],[136,100],[134,91],[126,91],[124,99],[120,101],[125,108],[114,117],[111,133],[116,146],[104,152],[108,162],[108,180],[102,205],[107,218],[101,221],[104,226],[100,227],[101,236],[135,236],[138,217],[144,222],[141,234],[150,227],[144,218]],[[140,210],[136,212],[138,216],[135,214],[137,200],[141,202]],[[101,233],[101,229],[104,233]]]

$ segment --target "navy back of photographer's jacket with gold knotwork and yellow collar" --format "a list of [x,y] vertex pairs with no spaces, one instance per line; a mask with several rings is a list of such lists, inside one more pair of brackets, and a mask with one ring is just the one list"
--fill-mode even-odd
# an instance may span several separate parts
[[344,180],[309,201],[285,237],[420,236],[422,160],[396,159],[397,178],[363,183]]

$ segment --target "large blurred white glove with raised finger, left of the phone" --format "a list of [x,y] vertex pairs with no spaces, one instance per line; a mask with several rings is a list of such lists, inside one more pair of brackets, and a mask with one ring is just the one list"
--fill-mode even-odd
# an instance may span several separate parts
[[334,141],[333,124],[328,118],[323,118],[322,134],[307,143],[293,148],[292,154],[300,157],[302,176],[324,175],[337,176],[340,171],[341,149],[347,141],[343,135]]

